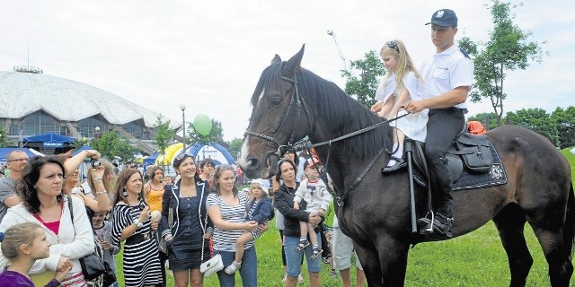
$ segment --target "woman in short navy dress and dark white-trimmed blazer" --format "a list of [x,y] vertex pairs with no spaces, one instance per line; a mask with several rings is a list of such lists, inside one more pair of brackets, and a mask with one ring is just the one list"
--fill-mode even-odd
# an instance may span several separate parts
[[[176,286],[202,286],[204,275],[199,272],[202,249],[204,261],[209,259],[208,241],[213,224],[206,213],[208,181],[199,178],[196,162],[189,152],[179,153],[173,169],[180,178],[164,187],[160,232],[168,242],[170,269]],[[169,216],[172,209],[172,226]]]

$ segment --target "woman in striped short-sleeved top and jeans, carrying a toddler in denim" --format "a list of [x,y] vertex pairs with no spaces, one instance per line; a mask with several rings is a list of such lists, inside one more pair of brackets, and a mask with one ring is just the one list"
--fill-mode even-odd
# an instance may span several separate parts
[[[235,188],[234,170],[233,166],[227,164],[217,166],[213,192],[209,194],[206,202],[209,218],[214,222],[214,252],[222,256],[225,266],[234,262],[235,241],[243,231],[258,228],[258,222],[245,222],[247,198]],[[253,240],[244,245],[244,250],[242,266],[239,269],[242,284],[244,287],[257,286],[258,261]],[[217,272],[217,278],[222,287],[235,286],[234,274],[226,274],[221,270]]]

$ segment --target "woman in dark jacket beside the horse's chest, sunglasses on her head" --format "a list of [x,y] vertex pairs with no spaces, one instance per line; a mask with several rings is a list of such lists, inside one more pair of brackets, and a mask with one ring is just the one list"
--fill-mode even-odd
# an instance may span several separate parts
[[[299,244],[300,228],[299,222],[309,222],[314,226],[318,226],[322,222],[322,218],[317,213],[305,212],[305,202],[300,204],[300,209],[294,209],[294,199],[296,197],[296,190],[299,183],[296,182],[297,166],[294,161],[282,159],[278,162],[278,170],[276,176],[283,180],[283,184],[274,195],[274,206],[278,209],[279,213],[284,215],[284,241],[286,261],[288,265],[286,284],[287,287],[295,287],[297,277],[301,274],[301,261],[305,254],[307,260],[307,271],[309,272],[309,286],[319,287],[321,258],[313,256],[313,248],[307,246],[303,249],[304,252],[296,251]],[[319,238],[319,230],[315,230],[316,236]],[[321,246],[319,246],[321,248]]]

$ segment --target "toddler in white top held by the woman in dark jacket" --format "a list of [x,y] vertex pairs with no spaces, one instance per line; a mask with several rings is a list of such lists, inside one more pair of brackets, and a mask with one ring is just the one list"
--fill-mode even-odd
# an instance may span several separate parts
[[[316,158],[311,158],[307,161],[305,166],[305,178],[302,183],[297,187],[296,197],[294,198],[294,209],[299,209],[299,204],[302,200],[305,200],[307,206],[305,212],[307,213],[317,213],[321,216],[327,210],[327,207],[332,201],[332,195],[327,191],[325,183],[320,178],[319,167],[315,167],[315,164],[319,163]],[[309,222],[299,222],[300,238],[299,244],[297,245],[296,251],[303,251],[308,245],[309,241],[307,236],[309,235],[310,241],[312,241],[312,247],[314,249],[314,254],[310,257],[312,260],[318,257],[322,252],[317,242],[317,235],[314,231],[315,226]]]

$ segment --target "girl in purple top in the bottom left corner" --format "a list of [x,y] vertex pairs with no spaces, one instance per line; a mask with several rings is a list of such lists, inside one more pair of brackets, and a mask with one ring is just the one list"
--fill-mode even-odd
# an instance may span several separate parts
[[[34,287],[28,272],[37,259],[47,258],[50,255],[50,243],[46,240],[46,233],[39,224],[26,222],[16,224],[0,232],[0,249],[11,264],[0,274],[0,286],[3,287]],[[64,270],[59,270],[54,279],[46,287],[57,287],[72,270],[72,264],[67,260]]]

